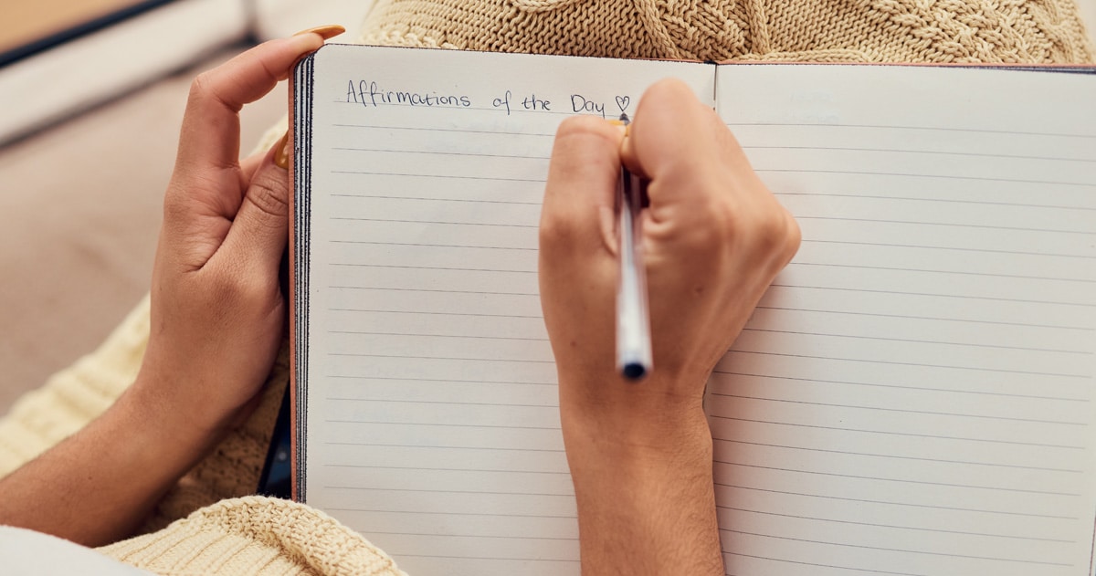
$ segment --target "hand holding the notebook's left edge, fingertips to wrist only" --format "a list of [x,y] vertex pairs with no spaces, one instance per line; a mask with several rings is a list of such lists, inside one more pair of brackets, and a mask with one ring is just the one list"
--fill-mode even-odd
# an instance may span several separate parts
[[321,33],[256,46],[191,87],[152,273],[148,352],[134,392],[203,435],[222,431],[247,411],[273,365],[286,316],[278,283],[288,227],[286,143],[239,160],[238,114],[333,35]]

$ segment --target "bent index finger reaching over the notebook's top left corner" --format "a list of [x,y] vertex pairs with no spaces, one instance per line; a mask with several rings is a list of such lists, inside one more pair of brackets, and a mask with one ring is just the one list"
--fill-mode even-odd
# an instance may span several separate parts
[[240,108],[266,95],[289,76],[297,58],[322,45],[318,34],[270,41],[194,79],[176,164],[235,166],[240,154]]

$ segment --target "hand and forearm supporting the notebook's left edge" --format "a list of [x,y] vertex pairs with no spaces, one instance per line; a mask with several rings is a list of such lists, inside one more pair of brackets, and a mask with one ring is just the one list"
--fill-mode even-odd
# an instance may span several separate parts
[[247,414],[285,321],[287,176],[239,159],[240,108],[323,44],[258,46],[194,81],[152,273],[137,380],[100,418],[0,480],[0,523],[99,545],[128,535]]

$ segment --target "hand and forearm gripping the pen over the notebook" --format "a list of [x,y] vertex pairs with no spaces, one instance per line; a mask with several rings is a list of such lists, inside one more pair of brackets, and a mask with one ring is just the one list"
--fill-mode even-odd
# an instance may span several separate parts
[[[540,222],[582,571],[723,574],[704,387],[795,255],[799,228],[684,84],[651,87],[630,130],[621,142],[601,120],[560,126]],[[614,367],[621,161],[650,178],[642,242],[654,361],[640,383]]]

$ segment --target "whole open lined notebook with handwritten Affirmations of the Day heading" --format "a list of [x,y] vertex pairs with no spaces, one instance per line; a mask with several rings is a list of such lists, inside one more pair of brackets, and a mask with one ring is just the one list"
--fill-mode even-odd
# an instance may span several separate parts
[[1089,574],[1088,74],[321,48],[294,79],[296,497],[413,575],[579,574],[539,204],[559,122],[667,76],[803,233],[708,387],[728,574]]

